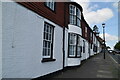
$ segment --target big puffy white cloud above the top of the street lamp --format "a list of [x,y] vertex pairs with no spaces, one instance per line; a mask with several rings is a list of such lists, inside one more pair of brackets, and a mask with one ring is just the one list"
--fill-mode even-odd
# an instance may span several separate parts
[[113,12],[109,8],[103,8],[85,14],[85,19],[89,24],[103,23],[112,17],[113,17]]

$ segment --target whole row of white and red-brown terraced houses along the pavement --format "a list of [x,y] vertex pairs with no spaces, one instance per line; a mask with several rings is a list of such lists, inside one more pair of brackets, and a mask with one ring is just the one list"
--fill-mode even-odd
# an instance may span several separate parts
[[[76,2],[3,2],[3,78],[36,78],[100,52]],[[98,50],[94,50],[98,47]]]

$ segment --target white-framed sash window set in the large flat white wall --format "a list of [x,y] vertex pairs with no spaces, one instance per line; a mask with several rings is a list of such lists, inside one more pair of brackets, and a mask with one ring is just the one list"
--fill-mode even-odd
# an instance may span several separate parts
[[45,22],[43,35],[43,58],[52,57],[53,31],[54,31],[53,26]]

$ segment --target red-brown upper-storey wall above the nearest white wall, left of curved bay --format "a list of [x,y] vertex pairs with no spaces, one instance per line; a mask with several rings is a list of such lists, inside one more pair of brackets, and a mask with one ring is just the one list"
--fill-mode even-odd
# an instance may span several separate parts
[[64,26],[64,2],[56,2],[55,11],[45,6],[44,2],[19,2],[22,6],[36,12],[37,14],[53,21],[54,23]]

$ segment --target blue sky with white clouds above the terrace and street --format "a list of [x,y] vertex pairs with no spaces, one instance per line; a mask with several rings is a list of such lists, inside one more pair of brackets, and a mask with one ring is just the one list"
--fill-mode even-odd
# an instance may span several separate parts
[[74,0],[83,7],[83,14],[93,28],[97,25],[103,38],[102,23],[105,23],[106,44],[113,49],[118,41],[118,0]]

